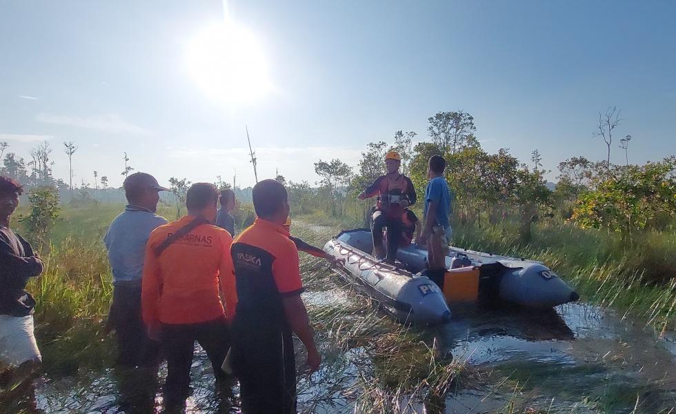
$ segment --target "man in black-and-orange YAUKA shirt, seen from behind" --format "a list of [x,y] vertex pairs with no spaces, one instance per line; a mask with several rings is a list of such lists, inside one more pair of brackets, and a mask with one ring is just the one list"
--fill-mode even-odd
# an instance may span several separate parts
[[288,194],[275,180],[260,181],[252,197],[258,218],[232,244],[237,311],[232,324],[232,368],[242,412],[295,413],[296,366],[292,333],[308,349],[314,371],[321,357],[312,338],[298,251],[284,223]]

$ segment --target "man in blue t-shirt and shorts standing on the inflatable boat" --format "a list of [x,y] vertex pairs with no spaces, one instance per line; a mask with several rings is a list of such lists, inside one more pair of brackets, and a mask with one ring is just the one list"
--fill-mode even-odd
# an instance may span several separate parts
[[451,192],[444,178],[446,160],[433,155],[427,168],[430,181],[425,189],[425,207],[421,244],[427,244],[427,260],[430,270],[446,268],[448,242],[453,235],[448,217],[451,213]]

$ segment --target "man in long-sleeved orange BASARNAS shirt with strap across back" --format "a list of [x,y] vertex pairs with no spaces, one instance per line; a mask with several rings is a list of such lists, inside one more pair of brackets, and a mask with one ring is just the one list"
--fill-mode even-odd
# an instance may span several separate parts
[[[235,315],[237,292],[232,273],[230,233],[212,226],[218,190],[192,184],[188,215],[150,233],[143,266],[141,306],[150,337],[161,339],[167,357],[164,388],[169,409],[185,404],[195,340],[211,360],[217,380],[230,345],[228,321]],[[226,302],[219,297],[219,279]]]

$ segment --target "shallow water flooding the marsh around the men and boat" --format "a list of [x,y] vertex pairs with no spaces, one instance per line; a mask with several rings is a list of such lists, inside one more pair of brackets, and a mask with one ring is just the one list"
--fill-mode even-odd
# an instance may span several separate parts
[[[312,242],[312,233],[320,235],[316,241],[335,233],[327,226],[316,227],[301,227],[306,232],[302,236]],[[319,259],[304,265],[304,274],[326,273],[317,263]],[[337,284],[315,281],[309,286],[313,290],[303,295],[308,306],[354,305],[353,293]],[[518,413],[538,412],[529,408],[551,413],[668,413],[676,407],[673,333],[657,338],[644,324],[587,304],[548,311],[472,304],[455,306],[452,313],[452,321],[430,329],[426,340],[432,344],[436,339],[441,353],[466,362],[476,379],[461,382],[441,401],[404,397],[398,402],[401,412],[494,413],[508,403],[515,404]],[[335,351],[319,346],[322,368],[311,377],[299,377],[299,408],[307,413],[354,412],[357,365],[363,372],[370,364],[368,355],[363,348]],[[297,343],[299,368],[302,348]],[[210,362],[199,346],[191,375],[194,392],[186,412],[239,412],[237,384],[216,390]],[[21,406],[30,413],[159,413],[165,376],[163,365],[158,375],[109,368],[77,377],[46,377],[21,404],[0,411],[15,413]]]

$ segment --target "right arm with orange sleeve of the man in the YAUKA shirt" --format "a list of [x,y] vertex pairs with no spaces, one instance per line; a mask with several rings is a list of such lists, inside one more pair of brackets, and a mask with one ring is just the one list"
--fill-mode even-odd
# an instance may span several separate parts
[[317,371],[321,357],[315,345],[305,304],[300,296],[303,292],[303,283],[301,282],[298,251],[294,246],[289,245],[288,250],[280,253],[275,258],[275,262],[272,262],[272,277],[275,278],[277,290],[282,297],[286,321],[308,350],[308,367],[310,371]]

